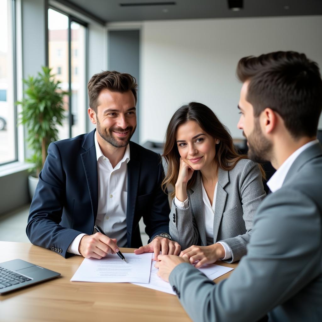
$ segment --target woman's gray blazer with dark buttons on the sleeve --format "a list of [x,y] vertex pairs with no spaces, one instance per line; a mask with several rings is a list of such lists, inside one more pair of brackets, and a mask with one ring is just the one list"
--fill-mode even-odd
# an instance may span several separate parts
[[[169,231],[182,249],[207,246],[201,184],[198,173],[195,184],[187,191],[188,208],[179,209],[172,201]],[[253,216],[265,196],[259,166],[251,160],[241,159],[230,171],[218,170],[213,243],[223,241],[230,247],[232,258],[227,262],[240,260],[246,254]]]

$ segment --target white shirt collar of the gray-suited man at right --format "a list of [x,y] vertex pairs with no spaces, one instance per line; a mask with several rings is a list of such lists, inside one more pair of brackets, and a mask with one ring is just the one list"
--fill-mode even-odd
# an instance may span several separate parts
[[270,188],[271,192],[275,192],[278,190],[285,180],[287,173],[289,172],[290,167],[292,166],[295,159],[308,147],[318,143],[319,140],[313,140],[304,144],[300,148],[298,148],[295,152],[293,152],[284,162],[283,164],[277,169],[277,171],[272,175],[270,180],[267,182],[268,187]]

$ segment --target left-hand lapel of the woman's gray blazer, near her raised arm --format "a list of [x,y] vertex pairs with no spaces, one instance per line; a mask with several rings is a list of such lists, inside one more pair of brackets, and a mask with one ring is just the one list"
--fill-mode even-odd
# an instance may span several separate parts
[[202,199],[202,188],[201,188],[201,175],[198,173],[196,182],[191,187],[192,192],[190,193],[190,202],[192,213],[198,227],[202,246],[207,246],[206,240],[206,229],[204,223],[204,202]]

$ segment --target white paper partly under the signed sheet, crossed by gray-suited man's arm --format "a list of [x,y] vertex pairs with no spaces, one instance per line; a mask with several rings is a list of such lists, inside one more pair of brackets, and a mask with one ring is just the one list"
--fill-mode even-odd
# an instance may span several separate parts
[[[154,267],[155,263],[156,263],[155,261],[152,261],[151,263],[151,274],[150,274],[150,281],[148,284],[142,284],[142,283],[133,283],[133,284],[147,287],[149,289],[156,289],[161,292],[166,292],[166,293],[175,295],[175,292],[173,291],[171,285],[156,275],[156,272],[158,271],[158,269]],[[198,270],[203,272],[209,279],[213,280],[218,278],[219,276],[222,276],[223,274],[228,273],[229,271],[233,270],[233,268],[220,266],[216,264],[208,264],[208,265],[203,265],[202,267],[198,268]]]

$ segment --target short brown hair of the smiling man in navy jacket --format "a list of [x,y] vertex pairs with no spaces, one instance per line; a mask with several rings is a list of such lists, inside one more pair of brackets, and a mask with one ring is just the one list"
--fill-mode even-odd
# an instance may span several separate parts
[[97,112],[97,98],[101,90],[124,93],[131,90],[137,103],[137,81],[135,77],[118,71],[102,71],[92,76],[87,84],[90,108]]

